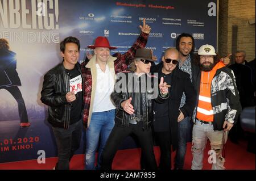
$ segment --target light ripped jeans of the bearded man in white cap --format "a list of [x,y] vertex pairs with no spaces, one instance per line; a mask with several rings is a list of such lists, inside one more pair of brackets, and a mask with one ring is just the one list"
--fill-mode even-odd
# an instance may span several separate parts
[[212,163],[212,170],[224,170],[225,159],[222,157],[222,148],[224,131],[214,131],[212,124],[204,124],[196,121],[193,126],[193,141],[192,141],[192,170],[201,170],[203,168],[204,149],[207,143],[207,138],[210,141],[211,150],[208,152],[208,162]]

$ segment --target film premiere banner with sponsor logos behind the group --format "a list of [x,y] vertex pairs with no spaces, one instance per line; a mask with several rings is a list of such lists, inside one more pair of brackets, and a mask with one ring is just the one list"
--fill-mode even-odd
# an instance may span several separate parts
[[[80,39],[80,62],[97,36],[118,47],[112,53],[124,53],[143,18],[152,28],[147,48],[159,61],[182,32],[195,37],[196,49],[217,48],[217,1],[0,0],[0,38],[9,42],[0,48],[0,163],[57,155],[40,91],[44,74],[62,61],[60,41]],[[126,140],[120,149],[134,146]],[[84,138],[76,154],[83,150]]]

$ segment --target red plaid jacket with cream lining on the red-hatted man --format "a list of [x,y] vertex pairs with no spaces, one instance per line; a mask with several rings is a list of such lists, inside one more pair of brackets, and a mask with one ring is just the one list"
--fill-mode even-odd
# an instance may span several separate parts
[[[139,35],[137,41],[126,53],[115,53],[113,56],[109,57],[107,64],[113,77],[115,77],[115,74],[126,70],[129,62],[133,60],[136,50],[146,46],[147,37],[147,33],[141,32],[141,35]],[[82,110],[82,118],[84,126],[89,127],[96,92],[96,56],[94,55],[89,61],[82,62],[81,68],[82,78],[84,79],[84,108]]]

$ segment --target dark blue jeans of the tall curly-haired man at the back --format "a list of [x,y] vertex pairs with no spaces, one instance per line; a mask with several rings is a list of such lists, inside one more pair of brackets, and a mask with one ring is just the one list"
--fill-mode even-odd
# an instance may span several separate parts
[[185,117],[178,123],[178,145],[175,157],[175,167],[177,169],[183,169],[184,166],[187,142],[189,140],[189,134],[192,134],[191,126],[190,117]]

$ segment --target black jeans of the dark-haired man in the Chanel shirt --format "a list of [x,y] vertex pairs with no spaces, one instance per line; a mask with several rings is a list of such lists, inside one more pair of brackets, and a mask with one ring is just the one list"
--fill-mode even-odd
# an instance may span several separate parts
[[68,129],[52,127],[55,135],[59,161],[56,164],[56,170],[68,170],[69,161],[73,154],[79,149],[82,137],[82,120],[69,125]]

